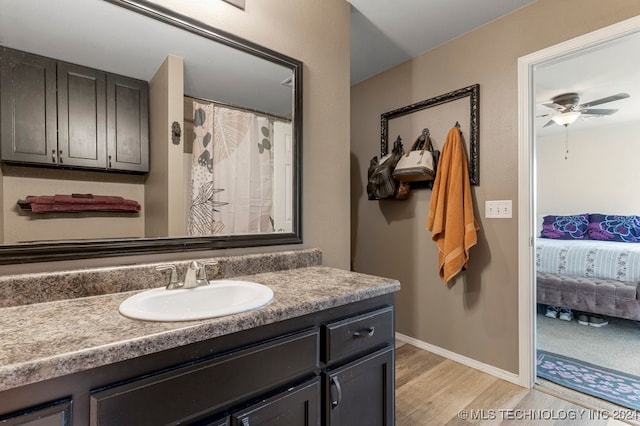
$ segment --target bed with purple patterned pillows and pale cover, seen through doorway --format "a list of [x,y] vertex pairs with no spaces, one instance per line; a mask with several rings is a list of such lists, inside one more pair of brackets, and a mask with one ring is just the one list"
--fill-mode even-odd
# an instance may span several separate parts
[[[564,226],[557,218],[565,218]],[[610,225],[606,233],[603,218]],[[627,225],[636,223],[630,231]],[[535,247],[538,303],[640,320],[637,216],[545,216],[541,236]]]

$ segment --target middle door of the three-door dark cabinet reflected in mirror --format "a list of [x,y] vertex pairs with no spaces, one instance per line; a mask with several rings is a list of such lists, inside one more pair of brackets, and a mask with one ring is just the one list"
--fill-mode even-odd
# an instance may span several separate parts
[[58,163],[106,168],[106,75],[58,63]]

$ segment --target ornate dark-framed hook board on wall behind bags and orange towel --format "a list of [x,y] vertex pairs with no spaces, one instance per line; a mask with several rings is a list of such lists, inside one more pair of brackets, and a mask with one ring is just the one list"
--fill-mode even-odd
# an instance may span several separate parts
[[[380,155],[392,140],[401,136],[405,149],[411,149],[422,130],[428,128],[435,149],[441,150],[449,130],[459,124],[465,142],[471,185],[480,184],[480,85],[474,84],[440,96],[416,102],[380,116]],[[412,184],[414,187],[414,184]],[[418,185],[417,188],[425,187]]]

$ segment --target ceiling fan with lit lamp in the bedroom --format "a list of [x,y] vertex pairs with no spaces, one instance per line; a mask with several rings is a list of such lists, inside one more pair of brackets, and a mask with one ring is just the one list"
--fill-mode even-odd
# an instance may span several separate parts
[[556,112],[539,115],[538,117],[551,117],[551,119],[544,125],[544,127],[550,126],[553,123],[561,126],[568,126],[576,121],[581,116],[603,116],[616,113],[617,109],[593,109],[596,105],[602,105],[609,102],[617,101],[619,99],[628,98],[628,93],[618,93],[616,95],[607,96],[605,98],[596,99],[594,101],[580,103],[580,95],[577,93],[563,93],[551,98],[550,103],[542,104],[547,108],[552,108]]

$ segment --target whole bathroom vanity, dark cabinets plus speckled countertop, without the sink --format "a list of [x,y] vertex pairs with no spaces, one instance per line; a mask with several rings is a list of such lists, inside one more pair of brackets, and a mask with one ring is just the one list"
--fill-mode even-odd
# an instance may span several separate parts
[[123,317],[133,292],[0,309],[0,424],[392,425],[395,280],[318,265],[237,279],[259,310]]

